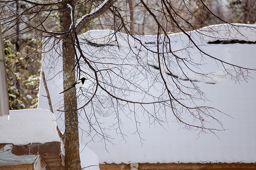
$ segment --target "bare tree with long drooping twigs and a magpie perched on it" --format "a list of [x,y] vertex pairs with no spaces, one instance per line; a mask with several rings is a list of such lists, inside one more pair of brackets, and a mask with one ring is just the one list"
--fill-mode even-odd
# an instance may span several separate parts
[[[217,130],[224,130],[221,121],[214,116],[214,113],[221,112],[216,108],[197,105],[197,100],[207,98],[195,80],[189,77],[187,70],[203,79],[213,79],[217,75],[200,71],[203,66],[200,61],[205,58],[216,61],[222,66],[225,75],[236,81],[246,80],[249,77],[248,71],[254,70],[210,55],[191,36],[191,32],[187,32],[198,28],[198,22],[201,23],[200,27],[207,25],[208,22],[205,20],[204,14],[207,14],[207,18],[226,23],[211,11],[209,4],[203,0],[197,2],[199,3],[197,7],[203,8],[204,11],[204,14],[200,14],[200,16],[195,14],[195,5],[191,6],[188,1],[174,3],[177,1],[160,0],[150,3],[139,0],[119,3],[117,0],[86,2],[65,0],[37,3],[22,0],[20,2],[25,8],[19,10],[18,14],[17,10],[11,8],[13,2],[0,2],[2,14],[5,14],[2,18],[5,40],[17,37],[15,21],[18,20],[20,37],[35,37],[40,42],[44,39],[44,45],[54,39],[49,50],[56,49],[56,53],[62,56],[64,88],[82,76],[90,78],[92,82],[92,88],[82,90],[79,96],[76,95],[76,91],[65,93],[64,109],[59,110],[65,113],[65,167],[67,169],[81,169],[78,115],[84,115],[85,122],[104,141],[111,141],[111,138],[101,127],[101,122],[96,115],[96,110],[99,107],[107,107],[109,112],[115,114],[116,122],[113,127],[123,135],[123,138],[125,138],[125,134],[122,133],[121,114],[127,114],[123,111],[124,109],[130,110],[129,114],[133,116],[137,133],[140,135],[138,113],[135,108],[140,108],[142,114],[148,117],[149,122],[164,124],[164,118],[159,115],[159,112],[163,112],[174,115],[183,128],[199,130],[199,133],[214,133]],[[88,11],[88,14],[84,11]],[[85,15],[81,15],[81,12]],[[128,14],[133,16],[128,17]],[[138,18],[135,18],[137,14]],[[102,18],[104,19],[102,20]],[[146,24],[146,21],[150,25]],[[148,25],[147,27],[150,28],[147,29],[147,32],[156,33],[154,41],[145,43],[135,36],[144,32],[139,27],[141,22],[142,25]],[[97,24],[99,23],[102,24],[101,28],[113,29],[113,31],[109,31],[108,35],[104,35],[108,41],[104,41],[102,44],[88,39],[86,34],[80,35],[89,28],[98,28]],[[226,24],[228,24],[226,27],[228,33],[229,29],[239,33],[236,25]],[[249,29],[255,32],[254,28]],[[218,35],[218,32],[214,31],[211,31],[212,36],[209,38],[214,39],[214,36]],[[125,39],[119,35],[120,32],[126,33]],[[180,50],[173,50],[169,32],[184,33],[188,41],[188,45],[184,46],[184,53],[187,53],[187,57],[184,57]],[[199,37],[204,35],[200,31],[197,33]],[[123,56],[115,55],[113,51],[109,54],[110,56],[98,57],[96,54],[101,52],[100,50],[94,54],[84,51],[84,41],[93,46],[115,45],[117,50],[122,50],[119,42],[126,41],[129,51],[125,51],[127,54],[125,53]],[[201,54],[200,61],[193,59],[189,50],[186,50],[188,48],[193,48]],[[141,50],[150,53],[151,56],[141,56]],[[132,55],[129,56],[129,54]],[[51,57],[49,59],[56,60]],[[231,66],[233,70],[227,69],[227,66]],[[152,68],[155,70],[153,71]],[[127,70],[134,72],[126,75],[124,73]],[[144,81],[147,82],[147,87],[142,86],[136,79],[136,75],[139,74],[146,75]],[[155,87],[156,83],[160,83],[162,86]],[[151,88],[157,88],[159,94],[151,94]],[[130,93],[140,94],[144,97],[142,100],[137,100],[129,96]],[[103,102],[103,100],[108,102]],[[83,104],[80,104],[81,101]],[[78,108],[77,103],[79,103]],[[147,109],[148,107],[152,109]],[[85,111],[88,108],[90,112]],[[184,118],[186,115],[190,116],[189,120]],[[208,126],[207,118],[209,121],[217,122],[220,126],[218,128]]]

